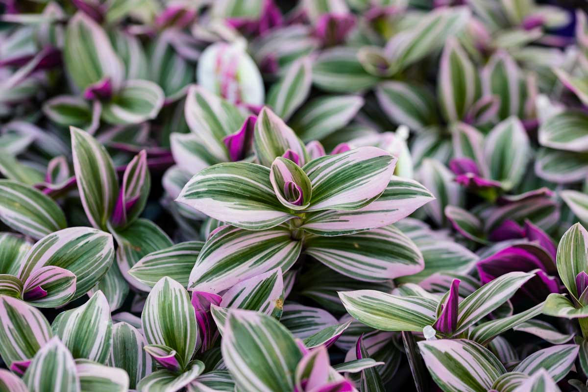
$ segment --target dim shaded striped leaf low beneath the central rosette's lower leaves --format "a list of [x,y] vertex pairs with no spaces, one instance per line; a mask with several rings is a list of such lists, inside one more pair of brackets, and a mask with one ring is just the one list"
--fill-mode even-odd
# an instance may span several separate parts
[[306,339],[338,324],[328,311],[318,307],[286,303],[280,323],[299,339]]

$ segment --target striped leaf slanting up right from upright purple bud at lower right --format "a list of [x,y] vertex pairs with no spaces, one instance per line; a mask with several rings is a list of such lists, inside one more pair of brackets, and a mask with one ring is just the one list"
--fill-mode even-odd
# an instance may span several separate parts
[[459,303],[455,334],[465,331],[473,323],[496,310],[533,276],[532,273],[509,272],[467,296]]

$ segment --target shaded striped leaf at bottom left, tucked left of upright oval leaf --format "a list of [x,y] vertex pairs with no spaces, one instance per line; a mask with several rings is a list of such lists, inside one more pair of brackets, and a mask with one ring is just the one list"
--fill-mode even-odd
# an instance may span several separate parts
[[151,356],[143,350],[145,345],[145,337],[131,324],[114,324],[112,349],[107,364],[126,371],[129,375],[129,389],[136,389],[139,381],[154,368]]

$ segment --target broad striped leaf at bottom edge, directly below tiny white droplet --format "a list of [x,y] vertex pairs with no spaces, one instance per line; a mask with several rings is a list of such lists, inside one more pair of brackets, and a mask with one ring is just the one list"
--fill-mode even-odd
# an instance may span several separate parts
[[466,339],[419,341],[429,373],[445,392],[485,392],[505,367],[487,349]]

